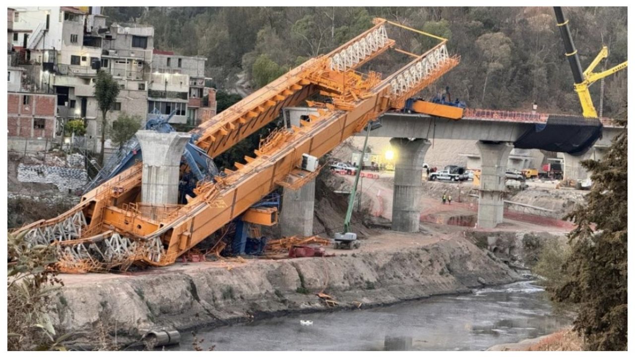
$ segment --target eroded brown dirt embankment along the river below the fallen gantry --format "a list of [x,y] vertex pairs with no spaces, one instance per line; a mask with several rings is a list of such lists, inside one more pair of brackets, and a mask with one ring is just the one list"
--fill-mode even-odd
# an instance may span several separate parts
[[297,311],[393,304],[431,295],[511,283],[520,276],[465,238],[326,258],[253,260],[232,269],[219,262],[152,269],[134,275],[62,276],[51,311],[64,332],[116,328],[119,341],[152,328],[222,325]]

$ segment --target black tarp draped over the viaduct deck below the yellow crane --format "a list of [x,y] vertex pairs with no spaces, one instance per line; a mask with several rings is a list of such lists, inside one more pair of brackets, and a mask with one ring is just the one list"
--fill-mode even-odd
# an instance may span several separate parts
[[536,124],[527,130],[514,142],[514,147],[579,156],[601,137],[602,123],[598,118],[550,115],[546,124]]

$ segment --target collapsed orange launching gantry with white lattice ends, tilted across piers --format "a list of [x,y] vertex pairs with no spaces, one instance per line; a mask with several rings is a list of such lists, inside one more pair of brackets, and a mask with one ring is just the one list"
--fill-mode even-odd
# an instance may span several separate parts
[[[20,231],[27,231],[31,244],[57,246],[62,270],[172,264],[277,187],[297,189],[311,180],[317,171],[300,168],[302,154],[323,156],[363,130],[368,121],[391,107],[403,107],[406,98],[458,64],[457,56],[448,55],[445,39],[413,30],[439,39],[439,44],[421,55],[408,53],[413,60],[385,79],[377,72],[355,71],[390,48],[398,50],[388,33],[400,29],[413,30],[377,18],[363,34],[308,60],[192,130],[196,145],[216,157],[277,118],[283,107],[318,93],[332,98],[326,104],[307,100],[318,107],[319,115],[300,121],[300,127],[274,131],[253,157],[244,158],[246,164],[225,169],[227,175],[214,182],[199,182],[197,196],[186,205],[151,207],[152,218],[144,214],[148,207],[139,203],[142,165],[137,163],[85,194],[68,212]],[[264,222],[276,214],[265,209],[250,210],[248,215]]]

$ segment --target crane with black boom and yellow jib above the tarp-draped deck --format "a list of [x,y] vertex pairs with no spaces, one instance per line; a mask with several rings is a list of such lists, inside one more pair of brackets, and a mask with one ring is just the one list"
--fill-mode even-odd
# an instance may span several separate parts
[[560,6],[554,6],[554,11],[556,13],[556,20],[558,21],[560,35],[565,42],[565,55],[567,60],[569,61],[569,65],[571,66],[571,71],[573,72],[573,86],[575,88],[575,91],[578,93],[580,104],[582,105],[582,116],[584,116],[585,118],[598,118],[598,113],[596,112],[593,101],[591,100],[589,86],[591,86],[591,84],[598,81],[599,79],[610,76],[617,71],[625,69],[628,65],[628,61],[618,64],[611,69],[607,69],[606,71],[598,73],[593,72],[599,62],[608,57],[608,48],[606,48],[606,46],[603,46],[602,50],[599,51],[598,55],[591,62],[586,71],[582,72],[580,57],[578,57],[578,51],[575,49],[575,44],[573,44],[573,38],[569,30],[569,20],[565,20],[565,15],[563,14],[562,8]]

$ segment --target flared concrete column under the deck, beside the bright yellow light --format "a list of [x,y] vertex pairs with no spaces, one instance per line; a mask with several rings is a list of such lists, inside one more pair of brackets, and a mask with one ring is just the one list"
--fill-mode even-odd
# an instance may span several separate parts
[[421,174],[427,139],[391,138],[396,151],[395,182],[392,191],[392,230],[418,232],[421,212]]

